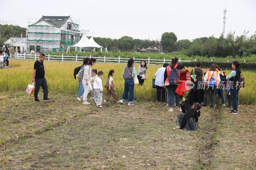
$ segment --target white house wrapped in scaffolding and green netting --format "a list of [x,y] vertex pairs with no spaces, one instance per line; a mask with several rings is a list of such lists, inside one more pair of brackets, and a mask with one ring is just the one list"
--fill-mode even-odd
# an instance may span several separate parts
[[80,41],[83,34],[89,36],[89,30],[79,30],[79,19],[70,16],[28,19],[27,51],[63,51]]

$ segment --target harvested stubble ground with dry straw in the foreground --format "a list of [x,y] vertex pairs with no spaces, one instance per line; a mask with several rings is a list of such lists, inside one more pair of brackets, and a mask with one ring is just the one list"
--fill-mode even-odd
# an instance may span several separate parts
[[256,169],[255,106],[203,107],[199,131],[185,131],[165,103],[49,97],[0,96],[0,169]]

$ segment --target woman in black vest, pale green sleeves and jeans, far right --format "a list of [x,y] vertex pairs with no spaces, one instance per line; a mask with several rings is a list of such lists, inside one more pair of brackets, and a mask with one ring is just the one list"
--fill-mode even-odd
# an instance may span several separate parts
[[232,62],[233,71],[231,71],[231,73],[226,77],[226,79],[230,81],[230,97],[231,97],[232,107],[233,107],[233,110],[230,110],[230,114],[234,114],[234,115],[238,113],[238,110],[237,110],[238,92],[240,87],[238,86],[237,82],[241,74],[241,70],[239,66],[240,66],[239,62],[233,61]]

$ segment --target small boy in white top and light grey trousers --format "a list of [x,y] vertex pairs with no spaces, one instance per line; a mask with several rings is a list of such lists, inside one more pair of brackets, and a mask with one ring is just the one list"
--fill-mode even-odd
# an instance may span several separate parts
[[94,94],[96,96],[96,99],[94,100],[94,103],[97,105],[97,107],[102,107],[101,102],[102,102],[102,91],[103,91],[103,86],[102,86],[102,80],[101,78],[103,77],[103,72],[99,71],[98,72],[98,78],[94,80]]

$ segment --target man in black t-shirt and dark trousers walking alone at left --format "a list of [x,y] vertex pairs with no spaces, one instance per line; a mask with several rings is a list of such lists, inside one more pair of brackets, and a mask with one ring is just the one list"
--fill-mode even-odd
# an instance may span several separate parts
[[48,86],[47,86],[46,79],[44,78],[44,59],[45,59],[45,55],[40,54],[38,60],[36,60],[36,62],[34,64],[32,82],[34,82],[34,81],[36,82],[35,91],[34,91],[34,96],[35,96],[36,102],[41,102],[40,100],[38,100],[38,97],[37,97],[40,86],[42,87],[42,89],[44,91],[43,101],[52,100],[52,99],[48,98]]

